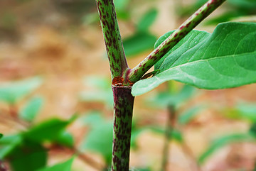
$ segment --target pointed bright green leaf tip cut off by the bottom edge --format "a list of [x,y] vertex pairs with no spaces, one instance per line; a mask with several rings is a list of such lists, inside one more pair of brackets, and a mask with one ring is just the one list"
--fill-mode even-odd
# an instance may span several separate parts
[[74,160],[74,157],[70,158],[69,160],[67,160],[65,162],[59,163],[57,165],[53,165],[51,167],[46,167],[46,168],[36,170],[36,171],[70,171],[73,160]]

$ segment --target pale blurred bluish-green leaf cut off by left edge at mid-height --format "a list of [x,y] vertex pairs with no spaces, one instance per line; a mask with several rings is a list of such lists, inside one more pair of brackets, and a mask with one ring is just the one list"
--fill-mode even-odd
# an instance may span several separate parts
[[16,104],[18,100],[39,87],[42,82],[43,80],[40,77],[33,77],[2,84],[0,86],[0,101],[5,101],[8,104]]

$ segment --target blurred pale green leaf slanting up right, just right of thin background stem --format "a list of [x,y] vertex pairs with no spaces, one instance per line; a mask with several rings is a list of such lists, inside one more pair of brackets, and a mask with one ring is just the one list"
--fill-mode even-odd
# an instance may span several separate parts
[[178,116],[178,123],[185,125],[186,123],[193,120],[193,118],[195,118],[199,114],[199,111],[201,111],[202,109],[204,109],[204,106],[201,105],[194,106],[193,108],[188,109],[183,114]]

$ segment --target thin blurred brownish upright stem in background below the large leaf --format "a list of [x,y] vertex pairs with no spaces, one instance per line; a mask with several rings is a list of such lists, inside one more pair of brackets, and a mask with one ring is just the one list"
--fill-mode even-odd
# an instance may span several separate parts
[[171,138],[171,134],[174,131],[175,124],[175,107],[173,105],[168,106],[168,118],[166,122],[166,133],[165,133],[165,141],[164,141],[164,150],[163,150],[163,158],[161,163],[161,171],[167,170],[167,163],[169,160],[169,142]]

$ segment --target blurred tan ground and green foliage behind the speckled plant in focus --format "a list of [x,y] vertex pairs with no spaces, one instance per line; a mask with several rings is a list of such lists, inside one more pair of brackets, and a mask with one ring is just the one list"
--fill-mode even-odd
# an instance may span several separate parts
[[[114,0],[129,67],[205,0]],[[196,29],[256,21],[255,0],[228,0]],[[33,171],[75,155],[107,170],[110,68],[93,0],[0,0],[0,170]],[[132,170],[256,170],[256,84],[208,91],[166,82],[137,96]],[[33,163],[33,164],[31,164]]]

